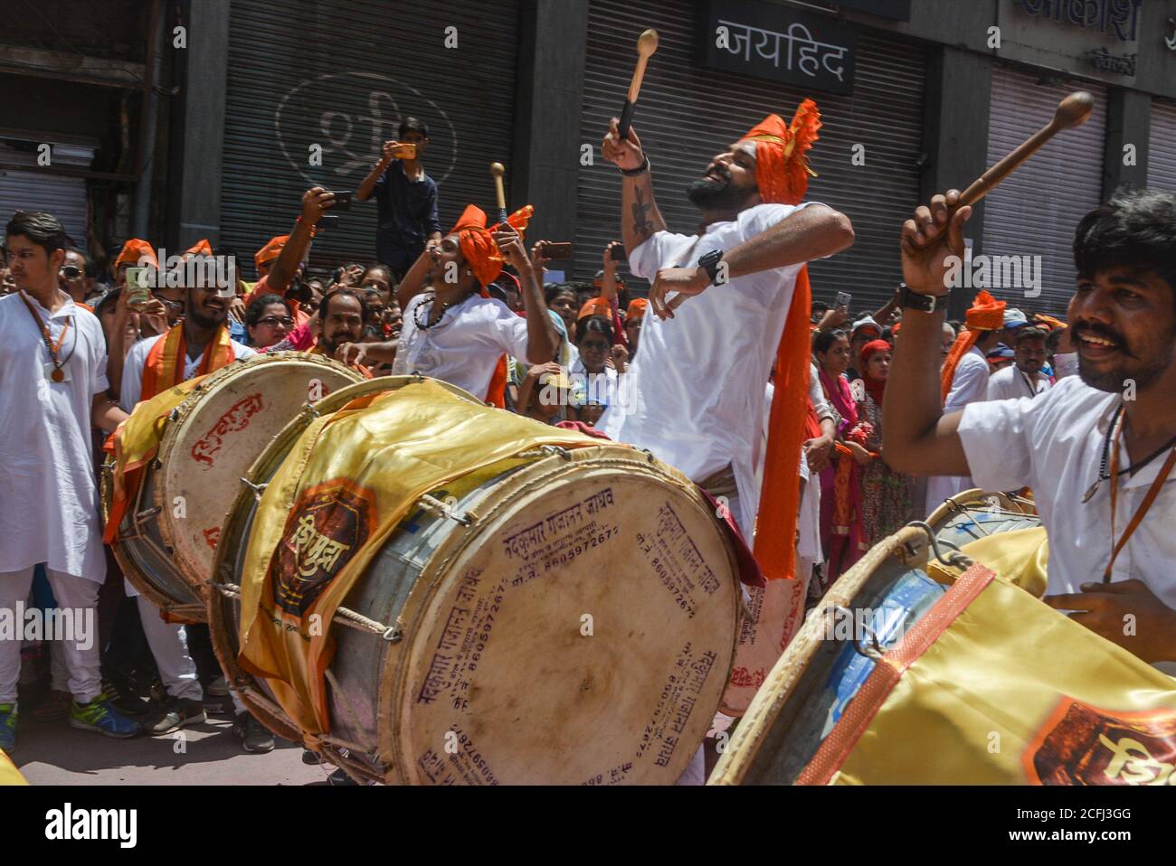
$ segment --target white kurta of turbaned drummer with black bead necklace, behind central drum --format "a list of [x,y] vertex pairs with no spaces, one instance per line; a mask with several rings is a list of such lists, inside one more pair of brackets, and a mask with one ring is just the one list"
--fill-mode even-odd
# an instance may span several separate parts
[[503,353],[527,360],[527,320],[497,298],[470,295],[432,328],[417,328],[416,309],[429,297],[417,295],[405,308],[392,375],[439,378],[486,400]]

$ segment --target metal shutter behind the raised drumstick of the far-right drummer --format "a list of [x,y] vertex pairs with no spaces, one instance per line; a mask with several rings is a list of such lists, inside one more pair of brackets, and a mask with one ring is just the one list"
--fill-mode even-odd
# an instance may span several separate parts
[[1058,134],[990,193],[984,204],[981,253],[1042,257],[1040,297],[1025,297],[1018,288],[991,293],[1024,311],[1064,315],[1074,294],[1074,229],[1102,200],[1107,88],[1090,82],[1038,85],[1035,75],[1005,66],[993,69],[989,165],[1044,126],[1057,103],[1077,89],[1095,98],[1090,120]]

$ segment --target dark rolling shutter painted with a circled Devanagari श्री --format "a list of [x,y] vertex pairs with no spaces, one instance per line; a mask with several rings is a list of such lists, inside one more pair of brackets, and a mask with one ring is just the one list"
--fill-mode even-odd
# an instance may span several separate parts
[[[252,274],[253,253],[289,231],[312,182],[355,189],[403,116],[429,125],[425,168],[443,230],[469,202],[493,213],[489,163],[510,170],[517,19],[516,0],[232,0],[222,246]],[[449,26],[456,48],[443,45]],[[310,143],[323,146],[319,168]],[[374,199],[354,202],[315,240],[312,267],[374,261],[375,226]]]

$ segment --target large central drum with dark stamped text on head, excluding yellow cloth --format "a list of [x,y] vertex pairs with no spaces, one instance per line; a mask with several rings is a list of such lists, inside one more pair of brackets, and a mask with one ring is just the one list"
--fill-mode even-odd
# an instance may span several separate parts
[[[437,401],[482,405],[445,383],[387,377],[318,409],[376,392],[393,405],[422,382]],[[274,477],[307,425],[299,418],[274,439],[252,484]],[[321,737],[238,663],[258,517],[255,497],[240,496],[208,617],[250,711],[361,780],[673,784],[706,736],[734,652],[730,541],[694,485],[646,452],[544,447],[514,463],[419,501],[348,591],[332,626]]]

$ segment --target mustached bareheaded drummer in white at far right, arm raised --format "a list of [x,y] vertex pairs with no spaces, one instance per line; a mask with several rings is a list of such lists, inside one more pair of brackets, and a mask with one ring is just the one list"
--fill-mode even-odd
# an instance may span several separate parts
[[[944,415],[931,363],[970,207],[936,195],[902,227],[902,342],[883,409],[897,471],[1028,484],[1049,535],[1044,600],[1176,673],[1176,196],[1136,190],[1087,214],[1074,239],[1068,320],[1078,375],[1045,394]],[[1130,615],[1135,627],[1124,624]]]

